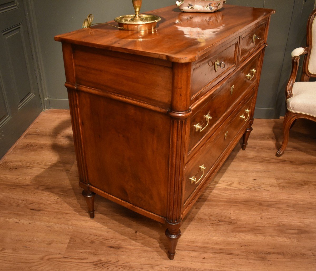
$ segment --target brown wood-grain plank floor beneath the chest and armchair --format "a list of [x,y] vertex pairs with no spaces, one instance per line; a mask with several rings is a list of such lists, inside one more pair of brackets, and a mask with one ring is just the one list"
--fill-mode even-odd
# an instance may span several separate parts
[[44,112],[0,165],[0,270],[316,270],[316,123],[256,119],[183,222],[164,226],[78,186],[70,114]]

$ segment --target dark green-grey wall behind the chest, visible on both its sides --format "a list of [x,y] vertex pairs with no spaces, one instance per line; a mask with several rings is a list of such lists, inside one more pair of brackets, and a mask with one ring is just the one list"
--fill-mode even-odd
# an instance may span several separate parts
[[[38,45],[42,58],[42,78],[46,107],[69,108],[67,92],[64,87],[65,75],[61,44],[53,37],[82,27],[82,21],[88,14],[94,15],[94,22],[111,21],[118,15],[133,13],[130,0],[31,0],[34,9],[34,25],[38,31]],[[307,0],[307,2],[315,2]],[[281,71],[284,78],[289,68],[283,67],[283,59],[287,50],[288,35],[293,14],[299,12],[295,3],[306,0],[227,0],[228,4],[271,8],[276,14],[271,16],[269,46],[266,49],[263,72],[259,86],[258,102],[255,117],[279,117],[283,96],[279,91]],[[144,0],[142,12],[172,5],[175,0]],[[310,13],[312,11],[307,12]],[[305,14],[303,14],[305,15]],[[299,14],[298,16],[301,16]],[[306,15],[305,15],[306,16]],[[292,32],[295,31],[292,29]],[[301,45],[301,41],[297,43]],[[298,47],[297,46],[297,47]],[[294,48],[293,48],[294,49]],[[284,80],[284,79],[283,79]],[[278,100],[279,99],[279,100]],[[278,102],[277,102],[278,101]]]

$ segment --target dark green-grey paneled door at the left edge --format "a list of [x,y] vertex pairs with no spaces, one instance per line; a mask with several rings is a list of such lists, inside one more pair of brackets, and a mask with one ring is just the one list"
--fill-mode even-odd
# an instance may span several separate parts
[[42,111],[22,0],[0,0],[0,159]]

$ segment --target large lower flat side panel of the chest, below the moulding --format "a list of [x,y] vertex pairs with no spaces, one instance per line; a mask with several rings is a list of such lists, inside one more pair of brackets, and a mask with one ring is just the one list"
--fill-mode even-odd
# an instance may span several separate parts
[[88,184],[166,217],[170,118],[85,92],[77,95]]

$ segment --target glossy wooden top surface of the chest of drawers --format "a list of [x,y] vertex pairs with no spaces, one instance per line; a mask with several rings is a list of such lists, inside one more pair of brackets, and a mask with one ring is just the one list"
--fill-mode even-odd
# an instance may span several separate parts
[[[58,35],[55,40],[172,62],[192,62],[274,10],[225,4],[214,13],[191,13],[180,12],[173,5],[148,13],[161,17],[156,31],[126,31],[100,24]],[[114,21],[109,23],[117,26]]]

